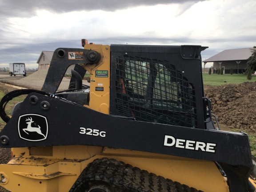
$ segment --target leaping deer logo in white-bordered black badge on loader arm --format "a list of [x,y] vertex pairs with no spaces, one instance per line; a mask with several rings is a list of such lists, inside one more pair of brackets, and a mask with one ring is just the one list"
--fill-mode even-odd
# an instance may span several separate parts
[[26,114],[19,117],[18,132],[21,139],[41,141],[47,138],[48,122],[46,117]]

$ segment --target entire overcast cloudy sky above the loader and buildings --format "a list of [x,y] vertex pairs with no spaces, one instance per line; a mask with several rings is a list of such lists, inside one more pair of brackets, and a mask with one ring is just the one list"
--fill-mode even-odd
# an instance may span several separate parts
[[0,67],[96,44],[197,44],[203,60],[256,46],[256,0],[0,0]]

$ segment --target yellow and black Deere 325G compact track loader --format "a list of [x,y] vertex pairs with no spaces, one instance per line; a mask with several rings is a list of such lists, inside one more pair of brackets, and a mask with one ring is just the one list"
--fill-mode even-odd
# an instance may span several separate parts
[[[41,90],[0,102],[12,192],[252,192],[248,136],[218,130],[197,45],[57,48]],[[74,65],[67,90],[58,87]],[[90,86],[83,84],[90,74]],[[11,116],[9,100],[22,94]],[[215,118],[214,118],[215,119]]]

